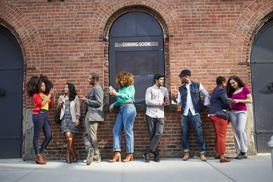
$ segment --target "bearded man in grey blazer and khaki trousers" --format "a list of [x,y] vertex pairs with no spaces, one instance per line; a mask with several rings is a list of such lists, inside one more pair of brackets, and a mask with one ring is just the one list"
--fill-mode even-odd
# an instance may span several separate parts
[[87,99],[83,96],[79,98],[80,101],[86,104],[83,141],[87,150],[87,165],[90,165],[92,162],[101,162],[97,129],[100,122],[104,120],[105,113],[103,107],[103,89],[98,81],[99,75],[97,73],[90,74],[88,83],[93,86],[93,89],[90,91]]

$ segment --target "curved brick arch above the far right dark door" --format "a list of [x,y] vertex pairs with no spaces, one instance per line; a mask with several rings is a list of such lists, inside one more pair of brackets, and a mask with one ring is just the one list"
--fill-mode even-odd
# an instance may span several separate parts
[[[232,30],[229,43],[231,62],[243,63],[249,60],[250,47],[259,28],[273,17],[273,1],[256,0],[241,14]],[[244,64],[241,64],[244,65]],[[247,68],[249,70],[249,67]],[[249,72],[249,71],[248,71]],[[249,77],[250,75],[248,75]],[[250,81],[250,80],[249,80]]]

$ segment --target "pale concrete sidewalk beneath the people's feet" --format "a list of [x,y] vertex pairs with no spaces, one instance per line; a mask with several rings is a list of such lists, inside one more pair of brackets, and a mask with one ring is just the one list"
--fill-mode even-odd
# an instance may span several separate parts
[[38,165],[34,161],[22,159],[0,159],[0,181],[273,181],[271,156],[249,156],[231,162],[219,163],[219,159],[200,158],[161,159],[150,163],[143,159],[131,162],[110,163],[102,160],[86,166],[83,161],[67,164],[65,161],[49,161]]

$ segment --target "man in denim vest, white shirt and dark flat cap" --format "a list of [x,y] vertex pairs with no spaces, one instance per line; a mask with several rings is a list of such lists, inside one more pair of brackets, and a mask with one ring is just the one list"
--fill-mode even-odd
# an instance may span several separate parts
[[[205,140],[202,129],[202,121],[200,112],[202,108],[209,105],[209,94],[201,83],[191,81],[191,71],[183,70],[179,74],[182,86],[178,89],[178,94],[171,93],[172,104],[181,105],[181,125],[183,130],[183,152],[185,156],[183,160],[189,159],[189,129],[191,121],[197,135],[197,142],[201,160],[206,161],[205,157]],[[185,84],[184,84],[185,83]],[[205,97],[204,106],[200,97],[200,93]]]

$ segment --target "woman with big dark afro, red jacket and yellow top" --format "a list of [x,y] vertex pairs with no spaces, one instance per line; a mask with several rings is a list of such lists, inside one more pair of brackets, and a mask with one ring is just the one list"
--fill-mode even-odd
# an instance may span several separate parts
[[[48,116],[49,105],[55,104],[56,89],[53,88],[53,83],[48,80],[47,76],[42,74],[38,76],[32,76],[27,84],[27,95],[33,97],[34,109],[32,115],[33,121],[33,148],[36,155],[35,162],[37,164],[46,164],[47,161],[42,159],[43,151],[49,145],[52,139],[51,124]],[[53,100],[50,98],[53,97]],[[43,130],[45,139],[39,149],[40,133]]]

